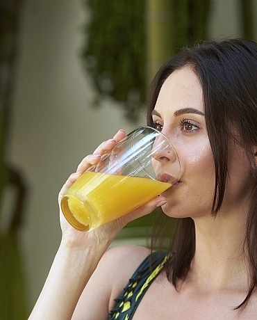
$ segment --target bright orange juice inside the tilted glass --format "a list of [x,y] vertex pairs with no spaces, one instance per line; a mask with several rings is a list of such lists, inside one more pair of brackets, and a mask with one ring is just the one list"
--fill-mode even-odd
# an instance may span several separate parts
[[88,231],[128,214],[170,186],[144,177],[87,171],[67,190],[61,207],[73,227]]

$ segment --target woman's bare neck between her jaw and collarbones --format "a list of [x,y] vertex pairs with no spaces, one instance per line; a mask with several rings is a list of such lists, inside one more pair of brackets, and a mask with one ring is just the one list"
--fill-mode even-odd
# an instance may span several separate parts
[[[194,219],[196,250],[190,278],[209,289],[236,286],[245,289],[247,266],[244,254],[246,218],[243,214]],[[205,282],[205,283],[203,283]],[[235,289],[235,288],[234,288]]]

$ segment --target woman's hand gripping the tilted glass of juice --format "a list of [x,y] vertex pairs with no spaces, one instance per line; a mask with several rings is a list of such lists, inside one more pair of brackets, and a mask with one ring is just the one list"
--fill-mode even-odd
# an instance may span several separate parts
[[[67,179],[67,182],[65,182],[63,188],[60,190],[58,197],[59,206],[60,200],[63,198],[64,193],[67,191],[67,189],[69,189],[70,186],[72,186],[76,179],[78,179],[78,177],[80,177],[85,170],[88,170],[88,168],[90,168],[91,166],[97,165],[97,163],[101,159],[101,156],[110,152],[113,147],[115,147],[115,144],[125,137],[125,131],[119,130],[117,134],[115,134],[113,139],[109,139],[108,141],[104,141],[103,143],[101,143],[101,145],[97,147],[93,154],[88,155],[81,161],[81,163],[78,165],[76,173],[73,173],[69,176],[69,179]],[[60,225],[63,230],[63,239],[65,239],[65,241],[68,241],[69,244],[72,243],[72,246],[88,246],[88,239],[91,239],[92,237],[94,238],[94,240],[90,242],[94,243],[94,246],[97,246],[97,243],[110,244],[110,242],[113,241],[117,233],[122,229],[122,227],[124,227],[124,225],[134,220],[135,218],[139,218],[140,216],[151,213],[151,211],[153,211],[156,207],[158,207],[159,205],[164,205],[164,203],[165,198],[156,197],[146,205],[132,211],[129,214],[126,214],[126,216],[123,216],[122,218],[119,218],[115,221],[111,221],[110,223],[106,223],[105,225],[98,227],[97,230],[92,230],[90,232],[80,232],[74,229],[74,227],[67,223],[60,209]]]

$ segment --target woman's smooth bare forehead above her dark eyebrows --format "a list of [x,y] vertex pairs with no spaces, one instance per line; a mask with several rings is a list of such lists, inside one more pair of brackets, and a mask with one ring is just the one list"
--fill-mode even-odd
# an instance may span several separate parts
[[155,109],[197,108],[203,111],[203,91],[196,74],[190,67],[175,70],[167,77],[156,102]]

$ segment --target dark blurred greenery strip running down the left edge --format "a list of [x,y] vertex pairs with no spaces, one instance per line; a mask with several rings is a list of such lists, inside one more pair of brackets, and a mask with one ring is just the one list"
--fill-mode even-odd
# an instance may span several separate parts
[[[13,168],[8,168],[6,163],[20,5],[20,0],[0,1],[0,319],[3,320],[26,319],[22,259],[17,238],[22,216],[24,186],[19,179],[19,173]],[[11,223],[8,227],[3,227],[3,216],[7,216],[6,212],[3,212],[3,195],[10,184],[15,186],[17,198],[9,203],[15,207],[10,216],[8,215]]]

